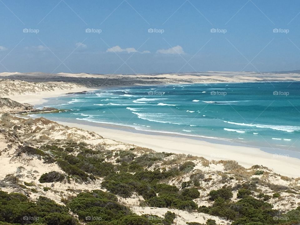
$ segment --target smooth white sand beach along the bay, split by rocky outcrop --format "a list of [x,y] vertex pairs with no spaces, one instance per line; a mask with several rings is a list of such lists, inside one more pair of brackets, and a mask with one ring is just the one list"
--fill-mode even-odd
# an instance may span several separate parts
[[[41,104],[47,102],[44,98],[59,97],[62,94],[80,91],[92,91],[94,89],[74,88],[69,90],[56,90],[51,92],[40,92],[32,95],[8,96],[20,103]],[[233,146],[225,144],[210,143],[184,137],[172,137],[167,135],[132,133],[127,130],[116,130],[97,126],[90,126],[79,123],[59,122],[69,127],[78,127],[93,131],[104,138],[134,144],[141,147],[151,148],[157,152],[184,153],[195,156],[202,156],[210,160],[235,160],[240,165],[248,168],[253,165],[263,165],[288,177],[299,177],[300,159],[279,156],[263,152],[259,148]]]

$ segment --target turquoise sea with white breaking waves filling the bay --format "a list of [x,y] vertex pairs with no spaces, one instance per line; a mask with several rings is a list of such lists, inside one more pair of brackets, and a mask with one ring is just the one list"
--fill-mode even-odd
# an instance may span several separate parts
[[217,83],[109,88],[50,98],[44,114],[300,152],[300,83]]

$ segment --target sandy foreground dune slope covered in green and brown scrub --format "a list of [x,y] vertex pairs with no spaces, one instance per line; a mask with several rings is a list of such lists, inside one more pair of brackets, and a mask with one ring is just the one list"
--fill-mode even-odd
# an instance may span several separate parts
[[300,223],[299,179],[260,165],[108,143],[42,118],[3,115],[0,125],[0,157],[18,165],[0,180],[0,224],[171,225],[180,212],[206,218],[191,225]]

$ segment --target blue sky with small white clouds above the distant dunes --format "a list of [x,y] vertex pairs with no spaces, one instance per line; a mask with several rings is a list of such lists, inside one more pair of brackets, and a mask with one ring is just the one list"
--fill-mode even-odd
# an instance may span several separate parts
[[1,72],[300,69],[298,0],[1,0],[0,27]]

